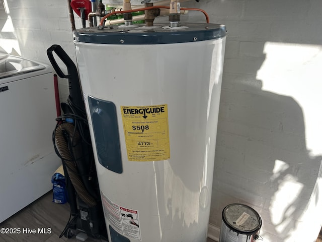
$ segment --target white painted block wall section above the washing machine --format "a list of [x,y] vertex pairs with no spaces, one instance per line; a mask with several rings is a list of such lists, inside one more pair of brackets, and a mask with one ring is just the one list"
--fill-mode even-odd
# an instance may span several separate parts
[[[76,28],[82,23],[75,15]],[[61,45],[76,61],[67,2],[38,0],[0,0],[0,47],[8,53],[50,65],[46,49]],[[64,69],[62,62],[57,63]],[[58,78],[60,101],[66,101],[68,84]]]

